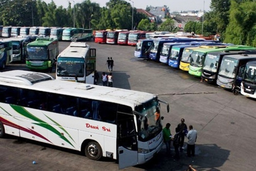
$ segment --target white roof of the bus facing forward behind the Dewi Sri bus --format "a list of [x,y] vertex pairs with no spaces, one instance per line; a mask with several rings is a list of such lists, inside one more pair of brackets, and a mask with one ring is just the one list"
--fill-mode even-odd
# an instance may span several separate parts
[[90,46],[84,42],[71,42],[70,45],[64,49],[58,56],[59,57],[74,57],[85,58]]

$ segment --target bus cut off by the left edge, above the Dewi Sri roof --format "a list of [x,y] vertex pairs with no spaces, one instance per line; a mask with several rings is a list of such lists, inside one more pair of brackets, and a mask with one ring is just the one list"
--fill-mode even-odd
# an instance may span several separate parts
[[0,69],[12,62],[12,42],[0,41]]

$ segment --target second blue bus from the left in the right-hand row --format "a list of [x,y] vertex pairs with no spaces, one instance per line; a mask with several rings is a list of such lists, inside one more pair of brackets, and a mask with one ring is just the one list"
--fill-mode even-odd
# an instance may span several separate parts
[[171,37],[166,39],[156,39],[153,40],[153,45],[149,53],[149,58],[154,61],[159,61],[160,52],[163,48],[163,43],[171,43],[171,42],[193,42],[193,41],[202,41],[202,39],[196,38],[177,38]]

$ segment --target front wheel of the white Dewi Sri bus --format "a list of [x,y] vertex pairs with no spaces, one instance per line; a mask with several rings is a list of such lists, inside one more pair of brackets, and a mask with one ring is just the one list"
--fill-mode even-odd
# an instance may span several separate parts
[[89,159],[99,160],[102,157],[102,149],[99,143],[95,141],[89,142],[85,147],[85,155]]

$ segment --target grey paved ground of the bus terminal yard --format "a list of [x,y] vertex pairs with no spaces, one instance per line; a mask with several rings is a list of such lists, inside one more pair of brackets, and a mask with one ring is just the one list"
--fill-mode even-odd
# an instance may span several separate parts
[[[199,78],[166,64],[138,59],[133,56],[134,47],[88,44],[97,50],[99,74],[108,72],[107,57],[115,61],[114,87],[153,93],[170,104],[169,113],[162,105],[161,115],[164,116],[163,126],[171,123],[172,134],[181,118],[198,132],[194,158],[187,158],[184,151],[179,161],[173,161],[165,155],[163,146],[148,163],[124,170],[183,171],[189,164],[197,170],[251,170],[255,167],[255,100],[234,96],[231,91],[202,83]],[[68,45],[69,42],[59,42],[59,52]],[[28,70],[25,64],[10,64],[2,71],[17,69]],[[55,73],[51,75],[55,77]],[[77,151],[14,136],[0,139],[0,150],[2,170],[118,170],[118,164],[108,158],[93,161]]]

